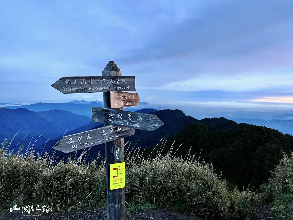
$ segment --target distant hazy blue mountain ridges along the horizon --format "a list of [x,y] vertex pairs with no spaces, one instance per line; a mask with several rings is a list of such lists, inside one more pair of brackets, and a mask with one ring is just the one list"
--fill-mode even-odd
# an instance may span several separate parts
[[[84,115],[91,118],[91,107],[103,107],[103,102],[101,101],[70,101],[68,103],[36,103],[27,105],[18,104],[7,104],[2,103],[0,106],[16,109],[16,108],[26,108],[30,111],[50,111],[55,109],[60,109],[64,111],[71,111],[74,114]],[[147,102],[139,102],[138,106],[126,107],[126,111],[138,111],[140,109],[154,109],[158,110],[157,107],[152,106]],[[159,108],[160,109],[160,108]],[[163,110],[163,109],[160,109]],[[288,114],[292,113],[292,114]],[[237,123],[249,123],[258,126],[265,126],[268,128],[274,128],[282,133],[293,135],[292,120],[293,120],[293,110],[275,110],[275,111],[236,111],[236,112],[219,112],[217,115],[212,117],[224,117],[229,120],[236,121]]]

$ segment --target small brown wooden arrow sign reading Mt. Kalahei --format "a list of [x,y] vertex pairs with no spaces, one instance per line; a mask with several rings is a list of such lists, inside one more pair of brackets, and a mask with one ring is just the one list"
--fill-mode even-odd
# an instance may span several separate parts
[[128,106],[138,106],[140,98],[137,93],[110,92],[111,109]]

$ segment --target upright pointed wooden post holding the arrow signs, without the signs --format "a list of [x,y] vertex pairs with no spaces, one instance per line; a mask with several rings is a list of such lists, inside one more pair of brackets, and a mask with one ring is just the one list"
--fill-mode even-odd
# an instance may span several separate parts
[[[113,61],[109,61],[102,76],[122,76],[121,71]],[[110,108],[110,92],[103,92],[104,108]],[[123,110],[123,108],[117,108]],[[114,158],[114,148],[121,148],[121,159]],[[108,220],[125,220],[125,188],[110,190],[110,164],[124,162],[124,138],[105,143],[106,181],[107,181],[107,210]]]

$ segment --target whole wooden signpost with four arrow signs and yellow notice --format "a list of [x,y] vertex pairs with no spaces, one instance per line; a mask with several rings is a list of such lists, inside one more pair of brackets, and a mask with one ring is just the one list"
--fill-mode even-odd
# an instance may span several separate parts
[[123,111],[140,99],[137,93],[123,92],[135,91],[135,77],[122,77],[113,61],[101,77],[62,77],[52,87],[64,94],[103,92],[104,108],[92,108],[92,121],[105,126],[62,137],[53,148],[69,153],[105,143],[108,220],[125,220],[124,137],[134,135],[133,128],[154,131],[164,123],[153,114]]

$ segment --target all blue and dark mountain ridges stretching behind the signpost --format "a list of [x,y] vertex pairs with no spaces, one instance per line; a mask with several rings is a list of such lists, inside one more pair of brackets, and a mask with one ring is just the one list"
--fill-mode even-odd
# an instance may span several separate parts
[[[98,102],[79,101],[66,104],[43,104],[38,103],[31,108],[48,109],[49,107],[86,106],[101,104]],[[91,122],[85,115],[74,114],[71,111],[60,109],[48,111],[31,111],[26,108],[0,108],[0,139],[8,138],[8,143],[13,142],[9,150],[13,150],[24,143],[25,147],[34,144],[36,152],[47,151],[53,153],[52,146],[65,134],[75,134],[93,128],[104,126],[103,124]],[[82,109],[82,108],[81,108]],[[127,109],[128,110],[128,109]],[[87,109],[87,111],[90,111]],[[155,131],[137,130],[136,134],[125,138],[126,148],[144,150],[145,156],[156,153],[159,147],[164,145],[162,153],[166,153],[173,144],[179,157],[185,157],[190,153],[197,155],[197,160],[212,163],[217,172],[223,172],[223,176],[233,185],[257,187],[265,181],[276,163],[282,158],[282,152],[288,153],[293,150],[293,136],[284,135],[275,129],[264,126],[249,125],[248,123],[237,123],[220,118],[195,119],[186,116],[181,110],[164,109],[139,109],[143,113],[155,114],[164,122],[164,126]],[[91,112],[91,111],[90,111]],[[270,116],[273,117],[273,116]],[[291,115],[276,115],[277,118],[287,118]],[[266,121],[288,121],[282,119],[258,119],[261,123]],[[256,120],[255,120],[256,121]],[[268,122],[270,123],[270,122]],[[289,126],[288,126],[289,127]],[[291,127],[289,127],[290,129]],[[38,139],[38,140],[37,140]],[[146,149],[144,149],[146,148]],[[105,152],[104,145],[97,145],[88,150],[86,162],[90,163]],[[153,152],[153,153],[151,153]],[[57,151],[56,159],[67,158],[70,155],[80,155],[81,150],[71,154]],[[201,155],[201,156],[199,156]],[[64,159],[66,160],[66,159]]]

